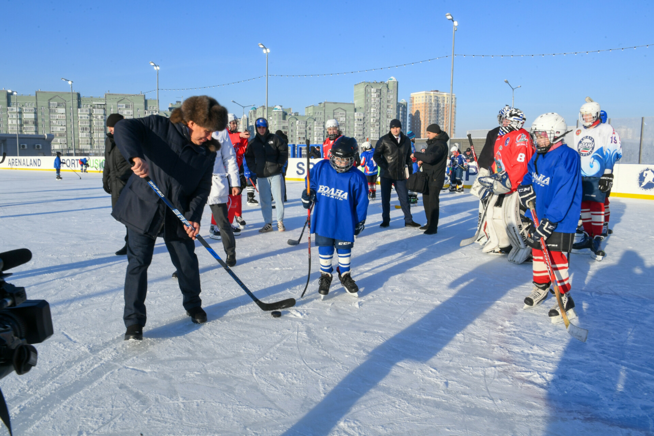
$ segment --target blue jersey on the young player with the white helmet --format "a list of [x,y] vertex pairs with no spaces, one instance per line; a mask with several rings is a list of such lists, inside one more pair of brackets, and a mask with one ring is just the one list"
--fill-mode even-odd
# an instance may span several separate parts
[[581,214],[581,160],[576,151],[562,144],[534,154],[521,185],[532,185],[538,219],[557,223],[556,232],[575,232]]

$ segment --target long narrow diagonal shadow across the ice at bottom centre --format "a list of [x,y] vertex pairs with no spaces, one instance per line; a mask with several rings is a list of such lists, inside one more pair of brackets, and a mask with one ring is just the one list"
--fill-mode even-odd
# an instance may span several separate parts
[[363,363],[347,374],[284,435],[331,433],[353,405],[375,388],[395,365],[405,360],[426,362],[432,359],[509,289],[530,282],[531,274],[518,274],[511,276],[510,283],[504,283],[502,287],[489,287],[489,280],[496,276],[497,270],[504,270],[506,266],[506,257],[497,257],[447,285],[449,288],[462,287],[419,321],[372,350]]

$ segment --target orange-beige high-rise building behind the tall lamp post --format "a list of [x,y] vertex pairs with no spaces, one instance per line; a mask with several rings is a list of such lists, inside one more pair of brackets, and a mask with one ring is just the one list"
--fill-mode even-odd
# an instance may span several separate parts
[[[416,137],[427,137],[427,127],[438,124],[443,132],[449,132],[449,92],[411,92],[411,128]],[[452,105],[452,137],[456,132],[456,96]]]

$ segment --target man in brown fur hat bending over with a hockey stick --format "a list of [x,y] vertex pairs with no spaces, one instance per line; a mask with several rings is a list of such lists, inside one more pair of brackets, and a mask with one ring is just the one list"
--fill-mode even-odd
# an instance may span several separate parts
[[[125,339],[143,338],[148,266],[157,236],[177,268],[186,314],[207,321],[201,308],[200,275],[194,239],[211,191],[213,164],[220,143],[211,137],[227,126],[227,110],[208,96],[187,98],[170,118],[150,115],[120,120],[114,138],[134,172],[111,215],[128,227],[125,278]],[[192,227],[184,227],[144,177],[150,177]]]

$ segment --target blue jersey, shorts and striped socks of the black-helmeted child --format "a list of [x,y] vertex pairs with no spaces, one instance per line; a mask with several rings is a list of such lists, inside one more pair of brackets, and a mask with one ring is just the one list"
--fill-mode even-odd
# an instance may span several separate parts
[[338,253],[341,274],[350,270],[354,229],[368,213],[368,182],[356,167],[338,173],[329,160],[317,162],[309,179],[316,199],[311,219],[311,233],[316,234],[320,270],[332,274],[334,248]]

